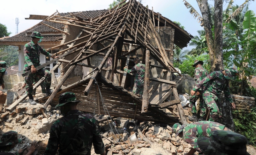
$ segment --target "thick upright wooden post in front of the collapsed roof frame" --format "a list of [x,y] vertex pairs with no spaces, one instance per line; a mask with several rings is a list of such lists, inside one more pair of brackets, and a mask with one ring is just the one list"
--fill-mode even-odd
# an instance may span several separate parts
[[146,50],[146,60],[145,60],[145,76],[144,76],[144,91],[142,98],[142,107],[141,113],[147,112],[147,108],[149,105],[149,50]]

